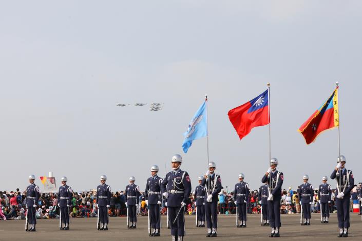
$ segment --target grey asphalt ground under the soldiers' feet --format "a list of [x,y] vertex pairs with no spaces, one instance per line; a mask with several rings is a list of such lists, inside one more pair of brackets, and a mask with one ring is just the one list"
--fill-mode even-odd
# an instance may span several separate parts
[[[196,228],[195,215],[185,216],[186,236],[184,240],[265,240],[269,239],[271,228],[260,226],[259,215],[247,217],[246,228],[236,228],[235,215],[218,216],[218,236],[206,237],[206,228]],[[171,240],[166,228],[166,217],[162,216],[160,237],[149,237],[147,216],[138,217],[137,229],[127,229],[125,217],[110,217],[109,230],[96,229],[97,218],[71,218],[70,230],[59,230],[59,219],[37,220],[36,232],[25,232],[25,220],[0,221],[0,240]],[[282,227],[279,239],[284,240],[338,240],[337,215],[331,214],[329,224],[320,223],[320,215],[312,214],[311,225],[301,226],[298,214],[281,217]],[[358,214],[351,214],[351,228],[348,240],[362,240],[362,220]]]

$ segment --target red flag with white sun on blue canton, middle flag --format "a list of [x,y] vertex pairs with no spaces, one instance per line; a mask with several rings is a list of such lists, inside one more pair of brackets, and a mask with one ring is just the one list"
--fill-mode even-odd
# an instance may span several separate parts
[[268,90],[265,90],[250,102],[227,113],[240,139],[249,134],[254,127],[265,126],[270,123],[268,105]]

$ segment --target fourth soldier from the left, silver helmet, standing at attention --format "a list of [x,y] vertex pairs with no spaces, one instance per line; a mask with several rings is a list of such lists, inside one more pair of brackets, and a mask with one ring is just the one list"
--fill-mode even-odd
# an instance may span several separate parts
[[126,187],[125,198],[126,198],[126,207],[129,222],[131,226],[130,229],[137,228],[137,207],[140,202],[140,188],[135,184],[136,178],[134,176],[129,177],[129,184]]

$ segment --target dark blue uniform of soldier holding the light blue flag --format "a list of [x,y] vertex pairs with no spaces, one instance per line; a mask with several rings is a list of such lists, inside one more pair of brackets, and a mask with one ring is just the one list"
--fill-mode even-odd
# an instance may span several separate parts
[[[213,232],[216,233],[217,229],[217,204],[219,201],[219,192],[221,192],[221,178],[219,175],[213,173],[202,179],[201,185],[205,187],[205,215],[207,228],[213,228]],[[207,195],[212,195],[211,202],[207,202]]]

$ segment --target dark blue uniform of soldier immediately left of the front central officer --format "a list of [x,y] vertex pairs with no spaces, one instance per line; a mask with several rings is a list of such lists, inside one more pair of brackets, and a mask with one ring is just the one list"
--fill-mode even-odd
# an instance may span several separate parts
[[163,179],[159,176],[152,176],[147,179],[145,199],[148,200],[148,213],[150,217],[151,228],[160,229],[160,205],[162,203],[162,185]]

